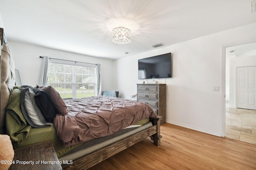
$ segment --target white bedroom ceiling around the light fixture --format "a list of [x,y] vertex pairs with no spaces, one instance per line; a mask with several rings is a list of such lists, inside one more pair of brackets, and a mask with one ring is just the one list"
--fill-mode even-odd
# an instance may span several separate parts
[[[0,0],[0,14],[9,41],[118,59],[254,23],[252,1]],[[118,26],[130,43],[112,42]]]

